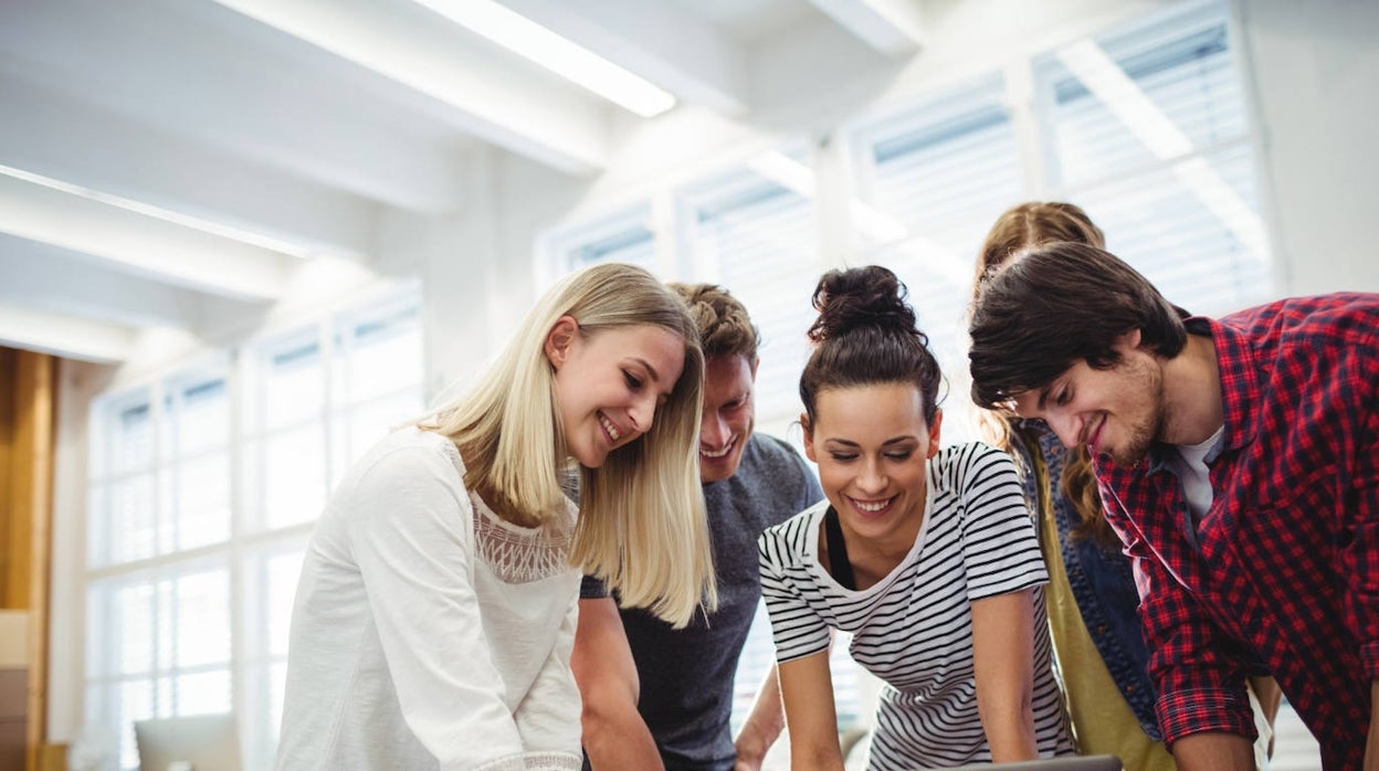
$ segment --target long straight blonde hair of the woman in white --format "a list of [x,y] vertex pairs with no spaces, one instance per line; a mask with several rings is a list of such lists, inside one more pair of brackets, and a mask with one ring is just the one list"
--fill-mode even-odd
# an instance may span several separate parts
[[459,445],[465,484],[499,516],[543,521],[560,510],[570,461],[545,343],[561,316],[575,319],[582,337],[650,324],[684,341],[684,370],[651,429],[597,469],[581,466],[570,553],[625,605],[684,626],[701,605],[717,607],[696,452],[703,353],[685,303],[651,273],[608,263],[565,277],[527,313],[479,383],[425,428]]

